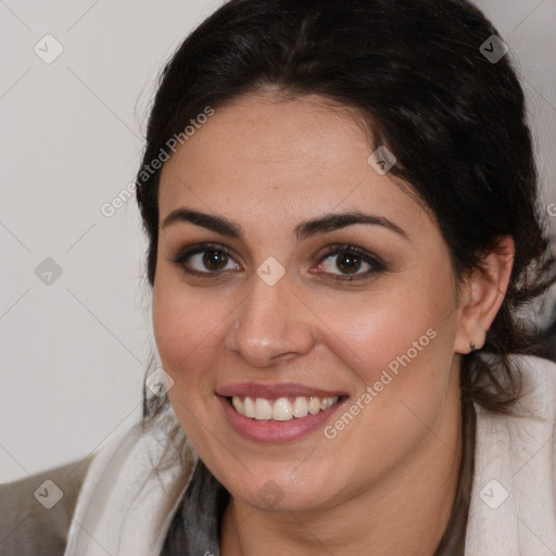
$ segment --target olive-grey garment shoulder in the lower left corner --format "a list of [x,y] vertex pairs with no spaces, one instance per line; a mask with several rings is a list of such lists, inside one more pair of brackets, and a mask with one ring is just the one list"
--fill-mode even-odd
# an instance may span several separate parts
[[0,556],[62,555],[92,455],[0,484]]

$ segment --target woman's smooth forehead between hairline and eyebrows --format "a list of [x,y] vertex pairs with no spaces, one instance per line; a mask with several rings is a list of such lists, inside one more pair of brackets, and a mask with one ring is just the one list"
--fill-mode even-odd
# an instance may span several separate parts
[[422,218],[399,180],[369,165],[371,152],[361,118],[346,108],[315,96],[248,96],[216,109],[166,163],[161,220],[180,205],[282,226],[353,208]]

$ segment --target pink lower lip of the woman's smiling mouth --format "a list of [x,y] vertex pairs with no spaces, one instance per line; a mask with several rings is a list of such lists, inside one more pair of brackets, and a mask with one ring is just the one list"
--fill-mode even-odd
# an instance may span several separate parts
[[232,429],[241,437],[255,442],[291,442],[319,429],[345,404],[346,397],[315,415],[290,419],[289,421],[257,420],[239,414],[227,397],[216,396]]

